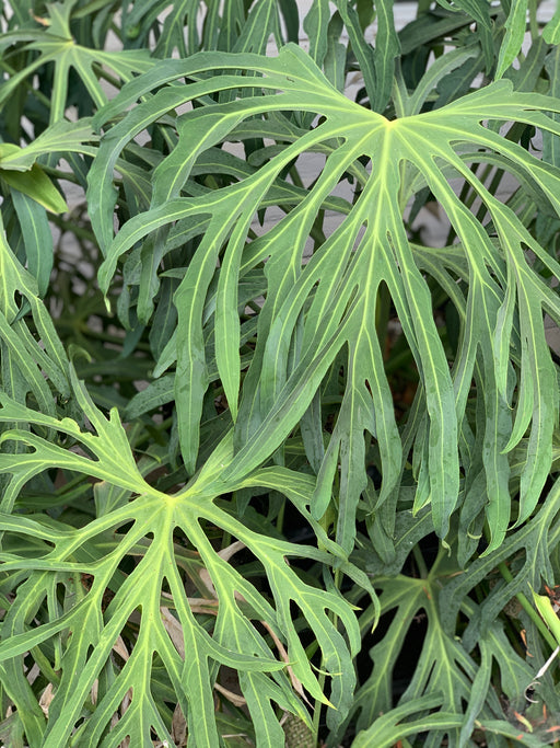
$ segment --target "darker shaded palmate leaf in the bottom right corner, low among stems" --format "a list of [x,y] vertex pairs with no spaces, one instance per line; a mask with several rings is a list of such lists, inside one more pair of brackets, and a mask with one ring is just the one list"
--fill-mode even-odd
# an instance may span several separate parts
[[[359,713],[358,729],[363,729],[363,733],[359,733],[353,745],[365,746],[366,738],[373,739],[373,735],[392,745],[406,735],[418,736],[428,729],[424,725],[429,725],[430,733],[424,739],[427,746],[435,748],[445,739],[466,746],[470,745],[475,723],[485,733],[488,729],[489,745],[497,748],[508,745],[492,736],[493,733],[504,736],[510,733],[498,694],[490,686],[492,661],[499,668],[503,693],[512,701],[529,686],[534,672],[518,655],[510,652],[503,626],[498,621],[479,640],[477,658],[467,654],[458,637],[444,632],[438,598],[444,599],[445,590],[441,591],[441,583],[435,582],[442,571],[440,560],[427,579],[404,576],[380,579],[382,613],[393,615],[393,620],[383,638],[370,652],[373,672],[358,692],[354,704]],[[465,612],[471,614],[474,607],[472,602],[465,602]],[[393,694],[397,659],[406,646],[407,634],[411,642],[415,628],[421,630],[424,623],[427,632],[421,649],[417,653],[410,647],[411,655],[412,652],[415,656],[418,654],[415,677],[396,705]],[[422,718],[417,723],[400,722],[408,710],[418,709],[430,699],[442,712],[432,715],[433,723],[428,716],[423,717],[425,723]],[[465,704],[469,705],[467,710]]]

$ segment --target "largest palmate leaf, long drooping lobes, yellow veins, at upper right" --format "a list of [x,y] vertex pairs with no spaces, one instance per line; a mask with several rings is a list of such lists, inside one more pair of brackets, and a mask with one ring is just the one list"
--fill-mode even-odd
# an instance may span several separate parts
[[[235,74],[238,70],[260,78]],[[205,77],[209,71],[219,74]],[[184,77],[199,80],[185,87],[164,85]],[[557,171],[501,138],[486,123],[514,119],[558,134],[558,124],[544,113],[558,112],[559,102],[537,94],[516,94],[513,99],[511,84],[501,81],[438,111],[388,122],[341,95],[304,53],[289,45],[276,59],[203,54],[189,60],[163,61],[128,84],[97,115],[96,124],[107,123],[156,88],[155,95],[132,108],[104,136],[91,172],[90,199],[92,220],[106,252],[100,272],[105,290],[119,257],[137,242],[177,221],[203,218],[198,229],[203,235],[175,294],[175,400],[187,469],[192,471],[196,464],[200,407],[209,383],[201,311],[220,258],[211,333],[234,417],[240,403],[237,453],[229,475],[240,480],[270,458],[307,411],[339,352],[348,346],[348,387],[318,472],[312,513],[319,518],[326,510],[340,463],[337,537],[347,551],[351,550],[355,506],[365,487],[364,434],[376,439],[381,453],[383,483],[377,506],[398,486],[402,467],[400,436],[372,324],[383,283],[416,359],[429,416],[419,421],[412,435],[417,474],[422,476],[415,506],[418,509],[429,503],[435,531],[441,537],[446,534],[459,488],[459,429],[475,428],[476,439],[483,444],[490,549],[498,546],[510,521],[506,452],[528,429],[521,522],[530,515],[548,474],[558,411],[556,373],[541,318],[545,309],[558,322],[560,306],[556,291],[533,271],[526,250],[557,277],[559,267],[517,216],[486,189],[469,163],[485,162],[487,154],[491,159],[498,153],[504,169],[520,171],[529,183],[538,184],[542,199],[558,211]],[[258,90],[259,95],[223,104],[205,100],[212,92],[235,89],[249,89],[255,94]],[[122,226],[109,244],[116,159],[141,129],[195,99],[208,103],[178,117],[177,148],[153,175],[153,207]],[[267,115],[289,111],[313,113],[320,119],[300,137],[277,139],[278,149],[255,173],[220,189],[202,194],[191,189],[189,174],[205,150],[243,138],[243,120],[256,119],[266,137]],[[275,139],[273,128],[270,137]],[[301,153],[332,143],[336,147],[327,151],[325,166],[306,195],[271,229],[249,241],[253,217],[282,169]],[[371,171],[360,170],[359,159],[368,160]],[[359,198],[304,262],[305,242],[317,212],[352,168],[359,175]],[[455,195],[448,182],[454,176],[464,179],[479,195],[492,219],[495,239]],[[466,296],[457,301],[464,323],[452,370],[429,313],[425,268],[415,255],[402,220],[408,199],[425,185],[462,241],[464,269],[459,278],[468,283]],[[159,235],[164,241],[165,234]],[[444,266],[446,256],[445,249],[439,255],[434,252],[434,267]],[[259,314],[253,363],[242,388],[238,278],[265,261],[266,301]],[[516,387],[508,388],[512,359]],[[480,387],[488,382],[482,416],[476,425],[468,424],[465,415],[472,377],[479,377]],[[463,461],[462,468],[468,474],[468,461]]]

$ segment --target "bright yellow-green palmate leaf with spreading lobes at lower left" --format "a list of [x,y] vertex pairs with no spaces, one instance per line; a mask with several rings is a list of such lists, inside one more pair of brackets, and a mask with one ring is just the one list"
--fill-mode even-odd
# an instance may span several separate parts
[[[69,527],[57,530],[48,521],[45,523],[39,515],[22,518],[3,514],[0,519],[0,528],[4,533],[48,541],[44,554],[36,554],[35,559],[11,552],[2,553],[4,573],[23,569],[28,582],[23,585],[22,596],[13,601],[5,619],[0,658],[13,670],[18,658],[30,646],[46,646],[60,632],[72,632],[63,646],[61,676],[50,705],[51,718],[43,745],[59,746],[69,739],[94,682],[106,667],[116,638],[135,611],[141,611],[141,619],[130,658],[121,672],[115,674],[107,692],[100,695],[95,714],[82,725],[79,733],[80,745],[98,745],[118,704],[130,688],[133,689],[133,698],[129,712],[104,745],[119,745],[125,735],[130,735],[132,741],[143,745],[150,739],[151,727],[162,740],[168,739],[168,725],[159,716],[150,687],[155,653],[165,665],[178,703],[187,715],[189,734],[197,745],[218,746],[211,695],[215,670],[210,663],[226,665],[242,672],[240,683],[246,694],[259,745],[278,745],[282,733],[270,702],[280,704],[304,720],[306,713],[295,699],[288,678],[281,672],[284,663],[271,656],[268,644],[253,626],[252,619],[264,621],[284,641],[295,677],[312,697],[325,700],[295,632],[291,601],[313,629],[324,655],[323,668],[332,676],[330,701],[338,711],[334,712],[335,716],[330,722],[336,725],[343,718],[352,702],[354,676],[351,657],[360,645],[358,625],[341,597],[303,583],[285,563],[288,556],[303,554],[322,564],[328,564],[331,556],[324,551],[257,534],[225,508],[213,504],[214,496],[244,485],[243,482],[224,482],[222,476],[223,467],[233,459],[231,438],[207,462],[192,485],[175,496],[166,496],[151,488],[141,477],[128,448],[125,431],[115,419],[116,414],[113,413],[110,419],[106,419],[96,411],[75,376],[73,388],[84,413],[95,427],[95,435],[81,431],[78,424],[70,418],[58,422],[3,396],[0,422],[58,429],[74,437],[95,459],[49,444],[36,434],[12,430],[3,434],[3,444],[15,440],[34,451],[21,453],[15,460],[12,454],[0,454],[0,472],[11,473],[12,483],[19,487],[34,474],[58,465],[95,476],[106,484],[127,488],[138,494],[138,497],[78,530]],[[247,480],[250,485],[277,488],[282,486],[282,491],[293,497],[295,505],[306,514],[301,503],[310,502],[314,484],[312,479],[305,480],[295,474],[292,476],[290,471],[277,469],[275,474],[256,473]],[[11,485],[8,491],[12,491]],[[259,560],[269,579],[273,606],[215,553],[201,527],[202,522],[221,527],[235,536]],[[129,529],[122,529],[126,526]],[[197,622],[191,610],[192,602],[187,599],[184,590],[173,546],[173,532],[177,528],[185,532],[200,553],[218,600],[212,637]],[[109,536],[113,538],[110,552],[104,554],[103,548]],[[149,541],[145,546],[147,538]],[[336,550],[338,555],[341,554],[341,549],[337,549],[326,536],[324,542],[330,550]],[[142,557],[126,579],[118,582],[119,563],[129,554],[138,555],[141,544],[144,544]],[[365,587],[369,586],[363,575],[352,569],[343,560],[341,563],[343,571]],[[30,628],[28,614],[42,603],[49,579],[77,573],[93,576],[94,582],[88,595],[82,596],[79,603],[67,612],[50,618],[47,623]],[[18,578],[21,582],[21,575]],[[170,641],[160,612],[163,605],[163,584],[171,592],[171,598],[167,596],[171,601],[168,599],[166,605],[174,611],[173,615],[182,631],[184,660]],[[34,587],[36,591],[31,594],[30,587]],[[115,596],[104,614],[103,598],[107,588],[113,589]],[[43,590],[42,594],[39,590]],[[327,611],[336,614],[342,624],[350,637],[350,648]],[[18,706],[23,709],[22,694],[15,689],[7,688]],[[26,729],[34,729],[33,714],[33,711],[28,713],[28,723],[24,720]]]

